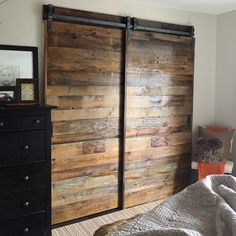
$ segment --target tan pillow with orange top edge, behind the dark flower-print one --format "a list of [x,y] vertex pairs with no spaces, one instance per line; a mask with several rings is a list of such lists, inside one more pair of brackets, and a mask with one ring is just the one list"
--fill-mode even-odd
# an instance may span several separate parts
[[225,160],[230,159],[234,132],[234,129],[224,127],[199,126],[200,137],[205,139],[219,139],[223,143]]

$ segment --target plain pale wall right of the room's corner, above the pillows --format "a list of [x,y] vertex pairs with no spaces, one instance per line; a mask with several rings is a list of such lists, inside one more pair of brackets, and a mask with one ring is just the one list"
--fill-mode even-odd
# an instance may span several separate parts
[[[216,123],[236,129],[236,11],[218,16],[216,57]],[[233,146],[236,161],[236,139]],[[236,166],[235,166],[236,167]],[[236,175],[236,168],[234,169]]]

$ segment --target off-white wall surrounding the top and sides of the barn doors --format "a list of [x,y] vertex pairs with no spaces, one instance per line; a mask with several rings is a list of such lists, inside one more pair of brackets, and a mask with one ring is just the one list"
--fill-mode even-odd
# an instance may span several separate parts
[[136,16],[195,27],[194,126],[215,119],[216,16],[171,10],[135,0],[8,0],[0,5],[0,44],[39,47],[43,64],[42,4],[80,10]]

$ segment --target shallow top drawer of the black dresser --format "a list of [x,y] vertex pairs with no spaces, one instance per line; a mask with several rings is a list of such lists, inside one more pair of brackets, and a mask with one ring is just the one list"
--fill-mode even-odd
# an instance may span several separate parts
[[24,129],[44,129],[45,116],[16,116],[0,118],[0,132]]

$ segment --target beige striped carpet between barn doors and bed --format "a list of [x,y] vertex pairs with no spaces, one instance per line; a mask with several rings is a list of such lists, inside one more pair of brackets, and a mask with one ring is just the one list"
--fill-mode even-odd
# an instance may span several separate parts
[[163,200],[117,211],[108,215],[99,216],[91,220],[82,221],[65,227],[52,230],[52,236],[92,236],[102,225],[111,224],[118,220],[128,219],[137,214],[151,210]]

